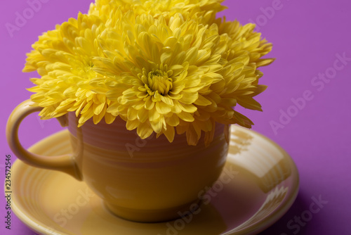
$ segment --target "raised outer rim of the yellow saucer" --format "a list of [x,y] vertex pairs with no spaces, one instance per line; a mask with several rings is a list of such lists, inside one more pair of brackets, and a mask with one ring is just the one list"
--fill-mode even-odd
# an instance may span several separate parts
[[[264,231],[268,227],[272,226],[272,224],[274,224],[280,218],[282,218],[283,215],[285,215],[286,212],[291,208],[294,201],[296,200],[296,197],[298,196],[298,191],[300,188],[300,176],[298,173],[298,168],[296,167],[296,163],[294,163],[293,159],[284,150],[284,148],[279,146],[279,144],[277,144],[275,141],[273,141],[272,139],[268,138],[267,136],[264,136],[263,134],[260,134],[252,129],[246,129],[244,127],[239,127],[237,125],[235,125],[235,127],[232,126],[232,128],[238,128],[238,129],[244,130],[246,132],[253,132],[254,134],[258,135],[260,138],[263,138],[263,139],[269,141],[274,147],[278,148],[280,152],[284,153],[284,158],[289,159],[289,167],[291,168],[291,171],[293,172],[291,174],[291,177],[293,177],[291,180],[291,192],[289,194],[287,194],[286,200],[284,200],[281,204],[279,204],[279,206],[276,209],[274,209],[274,211],[272,211],[270,213],[270,215],[265,217],[263,220],[260,220],[256,223],[253,223],[250,227],[246,227],[244,229],[241,229],[239,231],[234,231],[232,233],[229,233],[230,231],[226,231],[223,233],[226,235],[230,235],[230,234],[235,234],[235,235],[238,235],[238,234],[258,234],[261,231]],[[65,135],[66,132],[68,132],[67,129],[62,129],[59,132],[55,132],[49,136],[46,136],[44,139],[40,139],[35,144],[30,146],[28,148],[28,151],[35,151],[36,148],[40,148],[42,142],[48,141],[49,139],[58,138],[58,136],[60,136],[60,135]],[[18,167],[32,167],[32,166],[22,162],[20,159],[17,159],[17,160],[15,160],[15,163],[13,163],[11,168],[15,169]],[[37,167],[33,167],[33,168],[37,168]],[[41,170],[45,170],[45,169],[41,169]],[[17,170],[13,170],[13,172],[17,172]],[[15,174],[15,173],[13,173],[13,174]],[[71,235],[71,234],[67,234],[65,231],[58,231],[58,232],[60,232],[60,233],[58,233],[58,232],[56,232],[57,230],[56,231],[46,230],[45,227],[48,227],[46,224],[37,220],[35,217],[30,217],[25,212],[20,210],[20,206],[18,206],[15,201],[12,201],[11,210],[15,213],[15,215],[18,217],[18,219],[21,222],[26,224],[27,227],[29,227],[29,229],[32,229],[32,231],[34,231],[36,233],[44,234],[44,235]]]

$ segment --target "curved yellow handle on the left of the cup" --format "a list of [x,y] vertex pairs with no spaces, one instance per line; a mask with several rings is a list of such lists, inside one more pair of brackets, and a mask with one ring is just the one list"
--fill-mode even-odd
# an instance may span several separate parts
[[[27,100],[20,103],[11,113],[6,125],[6,138],[8,145],[13,153],[23,162],[34,167],[45,168],[49,170],[59,170],[65,172],[72,177],[81,180],[81,174],[78,170],[77,164],[74,162],[73,155],[59,155],[59,156],[44,156],[30,153],[20,144],[18,139],[18,128],[20,123],[27,115],[39,112],[43,108],[33,106],[34,102]],[[67,126],[66,116],[57,118],[62,127]]]

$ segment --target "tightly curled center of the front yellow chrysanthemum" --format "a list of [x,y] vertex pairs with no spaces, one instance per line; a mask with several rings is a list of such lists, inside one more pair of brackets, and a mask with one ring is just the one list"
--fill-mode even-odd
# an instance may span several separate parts
[[152,91],[159,91],[159,94],[166,95],[173,88],[173,80],[168,77],[167,72],[152,70],[147,75],[149,87]]

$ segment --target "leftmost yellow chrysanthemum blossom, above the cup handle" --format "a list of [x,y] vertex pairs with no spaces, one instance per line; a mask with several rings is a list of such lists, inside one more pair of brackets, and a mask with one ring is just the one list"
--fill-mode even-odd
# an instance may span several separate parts
[[114,116],[106,113],[110,101],[105,94],[92,91],[89,81],[96,77],[93,56],[102,55],[97,37],[105,29],[100,18],[79,13],[77,20],[69,19],[55,30],[39,37],[34,51],[27,54],[24,72],[37,70],[41,78],[33,78],[36,92],[32,101],[44,107],[41,119],[58,118],[69,111],[80,116],[79,126],[93,118],[95,123],[105,116],[107,123]]

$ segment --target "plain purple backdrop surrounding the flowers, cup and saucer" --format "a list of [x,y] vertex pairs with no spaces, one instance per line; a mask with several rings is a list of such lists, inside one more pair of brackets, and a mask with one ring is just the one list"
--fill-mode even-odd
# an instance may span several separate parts
[[[44,1],[44,0],[43,0]],[[21,101],[29,99],[25,88],[32,87],[29,77],[21,70],[25,53],[37,40],[41,32],[51,30],[56,23],[76,17],[78,11],[86,13],[91,0],[46,0],[27,24],[8,34],[5,24],[15,21],[16,11],[28,7],[25,0],[6,1],[1,7],[1,152],[0,177],[4,177],[5,155],[15,156],[5,139],[8,115]],[[273,0],[234,1],[227,0],[225,11],[228,20],[237,18],[241,23],[264,20],[260,8],[272,6]],[[267,19],[267,18],[266,18]],[[271,57],[277,58],[272,65],[263,68],[265,76],[261,83],[268,89],[258,96],[263,113],[244,110],[256,125],[256,131],[269,136],[280,144],[295,160],[300,172],[300,193],[296,203],[287,214],[262,234],[293,234],[286,224],[295,216],[309,209],[311,197],[329,201],[312,220],[296,234],[350,234],[350,166],[351,166],[351,122],[350,122],[350,73],[351,61],[336,77],[317,91],[311,84],[312,77],[333,66],[336,53],[346,53],[351,58],[351,4],[347,0],[282,0],[282,8],[262,21],[260,32],[274,44]],[[279,122],[279,110],[287,110],[291,99],[303,96],[310,90],[312,101],[296,117],[274,134],[270,121]],[[23,122],[20,129],[22,144],[29,147],[40,139],[60,130],[55,120],[41,121],[35,115]],[[1,180],[1,189],[3,189]],[[34,234],[13,217],[12,229],[4,229],[4,197],[0,197],[0,234]],[[13,215],[13,213],[12,213]]]

